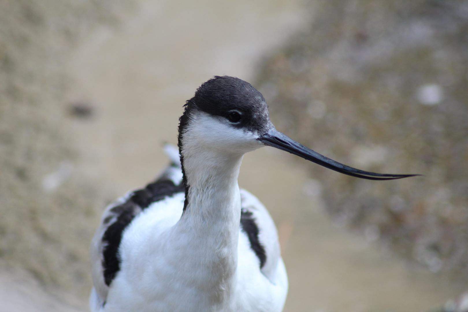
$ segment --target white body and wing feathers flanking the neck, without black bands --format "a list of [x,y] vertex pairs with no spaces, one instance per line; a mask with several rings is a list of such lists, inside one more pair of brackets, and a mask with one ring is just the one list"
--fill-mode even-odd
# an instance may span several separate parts
[[[180,167],[168,167],[164,174],[170,176],[176,185],[182,181]],[[102,220],[112,215],[110,210],[124,203],[130,194],[132,193],[110,204],[104,211]],[[92,244],[95,289],[90,298],[91,311],[281,311],[287,292],[287,277],[280,257],[275,225],[268,211],[255,196],[243,189],[239,194],[241,207],[252,212],[257,222],[259,239],[266,249],[268,261],[262,272],[259,259],[250,247],[249,238],[246,232],[241,230],[238,222],[238,261],[234,276],[236,287],[232,295],[235,299],[230,300],[232,301],[230,306],[208,308],[211,293],[222,292],[217,290],[216,286],[202,285],[198,288],[188,283],[185,285],[177,283],[175,280],[176,277],[181,277],[183,281],[192,279],[197,284],[200,279],[209,281],[213,275],[212,271],[207,272],[199,268],[199,264],[197,266],[197,263],[190,261],[190,258],[207,256],[204,251],[199,250],[201,246],[192,246],[200,252],[195,250],[185,254],[187,259],[181,259],[177,251],[172,253],[165,251],[171,247],[165,246],[169,240],[167,235],[183,212],[185,194],[179,192],[153,203],[132,220],[121,241],[120,257],[123,264],[121,272],[112,281],[111,287],[106,286],[102,278],[100,250],[103,247],[102,234],[106,226],[101,225]],[[217,260],[205,259],[205,261]],[[107,302],[102,307],[104,301]],[[258,302],[262,305],[257,305]]]

